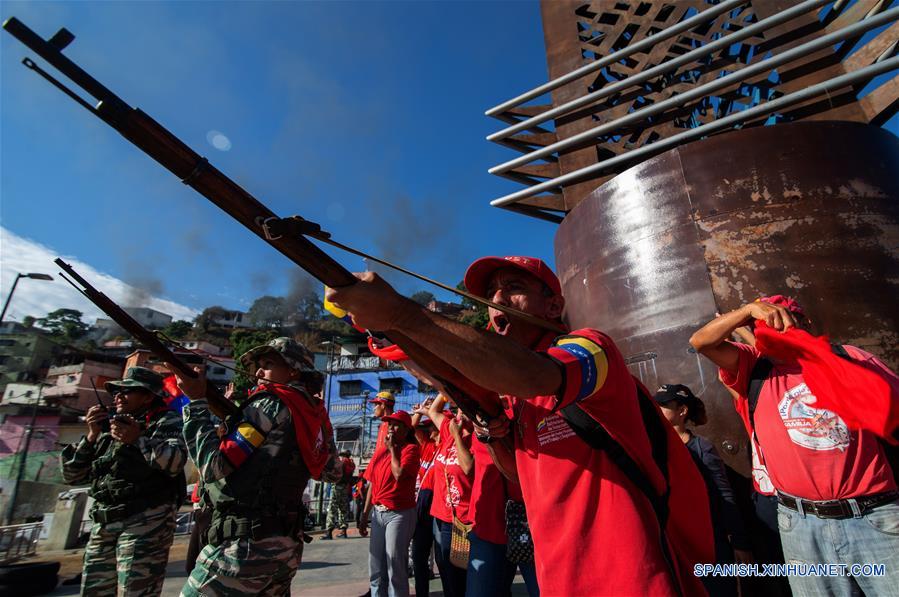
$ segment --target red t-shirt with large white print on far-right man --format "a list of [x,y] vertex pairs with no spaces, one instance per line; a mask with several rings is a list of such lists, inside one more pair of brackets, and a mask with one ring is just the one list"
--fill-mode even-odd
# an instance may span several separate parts
[[[737,371],[721,369],[720,376],[740,395],[735,407],[748,428],[746,392],[759,352],[746,344],[733,345],[740,351]],[[873,358],[854,346],[845,348],[854,359]],[[755,408],[755,436],[777,491],[821,501],[895,490],[892,469],[877,437],[849,429],[842,418],[815,408],[814,402],[801,367],[774,364]]]

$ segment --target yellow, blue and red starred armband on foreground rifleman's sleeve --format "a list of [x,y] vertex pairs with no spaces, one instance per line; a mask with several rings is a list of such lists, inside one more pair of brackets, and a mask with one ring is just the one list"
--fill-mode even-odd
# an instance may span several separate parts
[[585,336],[561,336],[547,351],[562,366],[564,382],[558,396],[559,406],[578,402],[597,393],[609,375],[606,353]]

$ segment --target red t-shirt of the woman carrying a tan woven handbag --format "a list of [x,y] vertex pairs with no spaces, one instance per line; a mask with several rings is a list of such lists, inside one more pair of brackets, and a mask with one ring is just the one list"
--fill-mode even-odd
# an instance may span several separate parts
[[[456,441],[450,433],[449,424],[452,417],[447,416],[440,425],[440,447],[434,464],[431,480],[434,484],[434,501],[431,502],[431,516],[444,522],[453,521],[453,508],[456,510],[456,518],[465,524],[471,523],[469,507],[471,504],[471,485],[474,480],[474,470],[466,475],[459,466],[459,456],[456,453]],[[471,435],[465,439],[465,445],[471,449]],[[474,467],[472,467],[473,469]],[[447,489],[447,480],[449,488]]]

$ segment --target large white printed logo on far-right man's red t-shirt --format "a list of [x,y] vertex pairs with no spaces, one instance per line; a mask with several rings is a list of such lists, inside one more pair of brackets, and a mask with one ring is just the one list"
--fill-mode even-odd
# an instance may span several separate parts
[[816,398],[805,383],[784,392],[777,411],[794,444],[809,450],[849,447],[849,428],[836,413],[810,406]]

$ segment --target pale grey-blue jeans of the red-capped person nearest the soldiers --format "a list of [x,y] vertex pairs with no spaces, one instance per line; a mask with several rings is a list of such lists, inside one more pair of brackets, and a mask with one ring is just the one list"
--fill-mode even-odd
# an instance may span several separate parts
[[408,597],[409,542],[415,532],[415,508],[371,513],[368,574],[372,597]]

